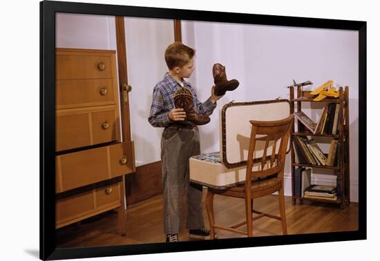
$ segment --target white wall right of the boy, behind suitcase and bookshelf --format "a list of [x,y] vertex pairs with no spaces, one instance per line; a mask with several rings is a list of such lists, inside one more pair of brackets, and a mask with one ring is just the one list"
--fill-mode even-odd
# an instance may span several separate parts
[[[358,34],[348,30],[291,28],[232,23],[182,21],[182,41],[196,49],[196,71],[190,78],[200,100],[210,95],[211,68],[219,62],[226,66],[228,79],[238,79],[240,86],[218,101],[218,108],[231,100],[254,101],[289,99],[286,86],[310,80],[312,88],[334,79],[336,86],[350,88],[350,179],[351,199],[358,200]],[[303,104],[316,121],[320,104]],[[218,109],[217,109],[218,110]],[[219,151],[218,112],[211,122],[200,126],[202,153]],[[330,144],[323,144],[328,152]],[[334,175],[314,168],[313,182],[334,184]],[[291,195],[290,157],[285,169],[285,193]]]

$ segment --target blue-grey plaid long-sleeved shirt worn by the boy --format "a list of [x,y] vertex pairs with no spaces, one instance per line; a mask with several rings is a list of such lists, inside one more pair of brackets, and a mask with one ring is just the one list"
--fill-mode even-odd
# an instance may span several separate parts
[[[211,97],[203,103],[198,101],[196,92],[191,88],[190,83],[188,81],[182,81],[184,88],[190,90],[193,95],[194,110],[199,114],[211,115],[216,108],[216,104],[212,103]],[[175,108],[174,95],[180,88],[182,88],[182,86],[180,86],[168,72],[165,73],[164,79],[155,85],[153,88],[151,113],[149,113],[149,123],[153,127],[167,127],[174,122],[169,119],[169,112]]]

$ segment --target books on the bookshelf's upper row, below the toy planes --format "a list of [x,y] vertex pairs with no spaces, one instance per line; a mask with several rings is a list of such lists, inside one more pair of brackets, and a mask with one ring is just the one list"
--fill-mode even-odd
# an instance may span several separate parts
[[339,133],[339,104],[326,104],[317,123],[310,119],[303,111],[294,113],[294,117],[313,134],[336,135]]

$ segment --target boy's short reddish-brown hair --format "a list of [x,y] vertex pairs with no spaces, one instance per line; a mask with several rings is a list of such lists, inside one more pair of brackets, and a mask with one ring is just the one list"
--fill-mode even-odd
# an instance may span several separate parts
[[171,43],[170,46],[165,50],[165,61],[169,70],[174,67],[182,67],[187,64],[191,58],[195,55],[196,51],[189,46],[185,46],[180,41],[175,41]]

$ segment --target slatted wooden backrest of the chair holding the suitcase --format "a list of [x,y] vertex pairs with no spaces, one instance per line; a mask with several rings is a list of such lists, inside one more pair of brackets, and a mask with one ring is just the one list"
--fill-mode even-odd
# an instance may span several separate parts
[[[252,128],[247,158],[247,184],[250,184],[252,178],[274,174],[278,174],[282,180],[293,117],[290,115],[285,119],[271,122],[249,121]],[[255,151],[263,151],[262,157],[258,159]]]

